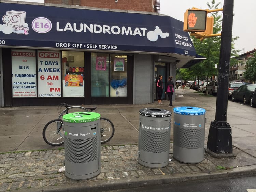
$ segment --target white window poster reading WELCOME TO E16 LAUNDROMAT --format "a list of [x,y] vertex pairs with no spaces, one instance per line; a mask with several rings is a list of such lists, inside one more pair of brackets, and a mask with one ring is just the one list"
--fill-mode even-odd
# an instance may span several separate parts
[[37,97],[35,51],[12,49],[12,97]]

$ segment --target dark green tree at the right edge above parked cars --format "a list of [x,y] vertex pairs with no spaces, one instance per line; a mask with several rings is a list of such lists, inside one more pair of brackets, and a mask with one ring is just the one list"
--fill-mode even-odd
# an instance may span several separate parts
[[248,60],[246,64],[245,71],[243,72],[243,76],[245,79],[250,80],[251,82],[256,81],[256,52],[251,54],[251,60]]

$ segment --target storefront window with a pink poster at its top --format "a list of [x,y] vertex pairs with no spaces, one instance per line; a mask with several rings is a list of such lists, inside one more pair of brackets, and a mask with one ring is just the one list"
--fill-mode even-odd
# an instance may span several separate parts
[[109,54],[91,53],[91,96],[109,97]]

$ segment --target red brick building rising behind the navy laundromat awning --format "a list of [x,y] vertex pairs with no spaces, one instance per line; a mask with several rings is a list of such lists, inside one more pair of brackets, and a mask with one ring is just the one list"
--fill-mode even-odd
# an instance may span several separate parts
[[45,3],[159,13],[160,0],[45,0]]

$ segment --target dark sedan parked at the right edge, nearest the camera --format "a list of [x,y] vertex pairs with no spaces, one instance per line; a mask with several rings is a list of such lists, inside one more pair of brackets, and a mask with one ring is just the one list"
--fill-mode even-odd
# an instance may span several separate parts
[[250,102],[251,107],[256,106],[256,84],[242,85],[232,93],[232,101],[243,101],[244,104]]

